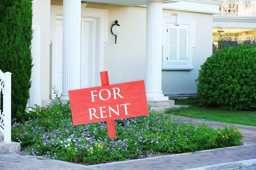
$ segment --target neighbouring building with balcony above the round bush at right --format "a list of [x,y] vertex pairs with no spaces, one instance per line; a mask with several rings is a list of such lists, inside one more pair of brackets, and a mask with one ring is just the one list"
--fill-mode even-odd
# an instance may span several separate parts
[[225,0],[219,14],[213,15],[213,43],[219,35],[228,35],[239,42],[256,38],[256,1]]

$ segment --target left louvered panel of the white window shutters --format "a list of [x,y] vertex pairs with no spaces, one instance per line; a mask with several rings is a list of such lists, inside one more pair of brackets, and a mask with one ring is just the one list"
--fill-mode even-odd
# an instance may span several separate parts
[[168,26],[167,63],[177,62],[177,26]]

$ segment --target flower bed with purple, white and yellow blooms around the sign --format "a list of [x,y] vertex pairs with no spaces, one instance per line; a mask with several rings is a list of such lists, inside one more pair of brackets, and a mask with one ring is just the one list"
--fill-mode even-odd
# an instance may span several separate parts
[[35,107],[22,122],[12,120],[12,141],[23,153],[86,165],[243,144],[237,127],[212,129],[148,109],[148,116],[115,120],[117,138],[110,139],[106,122],[73,126],[69,103]]

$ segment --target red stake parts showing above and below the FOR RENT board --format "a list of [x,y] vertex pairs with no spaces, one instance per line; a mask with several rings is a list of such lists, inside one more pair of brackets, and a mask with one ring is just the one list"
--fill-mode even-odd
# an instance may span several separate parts
[[[108,71],[100,72],[100,78],[101,78],[102,86],[109,85]],[[115,122],[113,120],[108,120],[107,127],[108,127],[108,137],[116,138]]]

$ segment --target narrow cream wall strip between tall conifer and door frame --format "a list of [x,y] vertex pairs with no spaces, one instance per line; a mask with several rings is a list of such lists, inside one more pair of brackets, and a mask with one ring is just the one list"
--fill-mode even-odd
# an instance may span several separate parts
[[[50,0],[33,0],[33,25],[40,26],[40,102],[49,99]],[[42,103],[39,103],[42,105]]]

